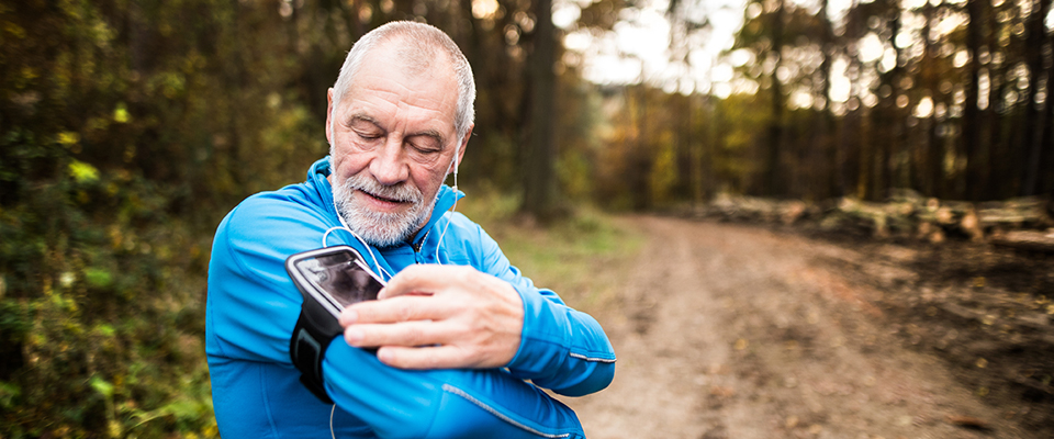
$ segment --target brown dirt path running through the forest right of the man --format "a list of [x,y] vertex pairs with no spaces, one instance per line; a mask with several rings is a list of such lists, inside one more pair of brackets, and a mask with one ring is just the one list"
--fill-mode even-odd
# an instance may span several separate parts
[[[564,398],[591,439],[1032,438],[902,348],[882,294],[822,259],[865,256],[761,228],[632,217],[647,241],[593,309],[612,386]],[[910,277],[897,272],[889,275]],[[988,430],[957,424],[984,421]]]

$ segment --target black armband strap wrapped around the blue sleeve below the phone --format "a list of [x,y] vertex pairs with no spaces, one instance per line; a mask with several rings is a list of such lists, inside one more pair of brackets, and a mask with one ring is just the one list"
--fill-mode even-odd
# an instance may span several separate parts
[[300,318],[289,339],[289,357],[300,370],[300,382],[326,404],[333,404],[333,399],[326,394],[322,379],[322,359],[329,342],[343,331],[336,317],[314,300],[304,297]]

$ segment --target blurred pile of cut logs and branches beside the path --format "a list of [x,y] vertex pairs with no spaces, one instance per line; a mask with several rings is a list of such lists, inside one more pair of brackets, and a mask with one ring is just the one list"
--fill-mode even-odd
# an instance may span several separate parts
[[807,203],[722,194],[694,217],[728,222],[805,224],[821,230],[911,238],[940,244],[968,238],[1022,250],[1054,252],[1054,200],[1029,196],[973,203],[895,190],[886,202],[852,198]]

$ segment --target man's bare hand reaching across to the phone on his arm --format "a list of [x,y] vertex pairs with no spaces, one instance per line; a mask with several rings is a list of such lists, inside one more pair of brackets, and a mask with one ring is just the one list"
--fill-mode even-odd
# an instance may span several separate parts
[[512,285],[471,267],[412,266],[377,301],[340,314],[344,338],[380,347],[401,369],[501,368],[519,349],[524,304]]

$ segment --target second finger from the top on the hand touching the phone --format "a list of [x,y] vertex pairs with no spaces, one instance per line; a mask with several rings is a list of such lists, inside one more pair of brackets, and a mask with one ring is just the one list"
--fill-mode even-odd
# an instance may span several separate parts
[[435,320],[449,315],[449,306],[442,301],[427,296],[401,296],[384,301],[367,301],[352,304],[340,313],[340,326],[363,323],[397,323]]

